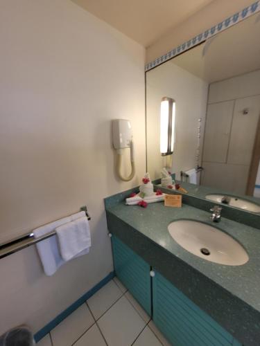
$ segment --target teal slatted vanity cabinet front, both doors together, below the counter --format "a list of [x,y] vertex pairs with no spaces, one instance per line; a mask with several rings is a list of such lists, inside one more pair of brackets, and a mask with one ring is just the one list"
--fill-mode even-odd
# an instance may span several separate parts
[[[174,346],[241,346],[139,255],[112,236],[116,276]],[[153,313],[152,313],[153,311]]]

